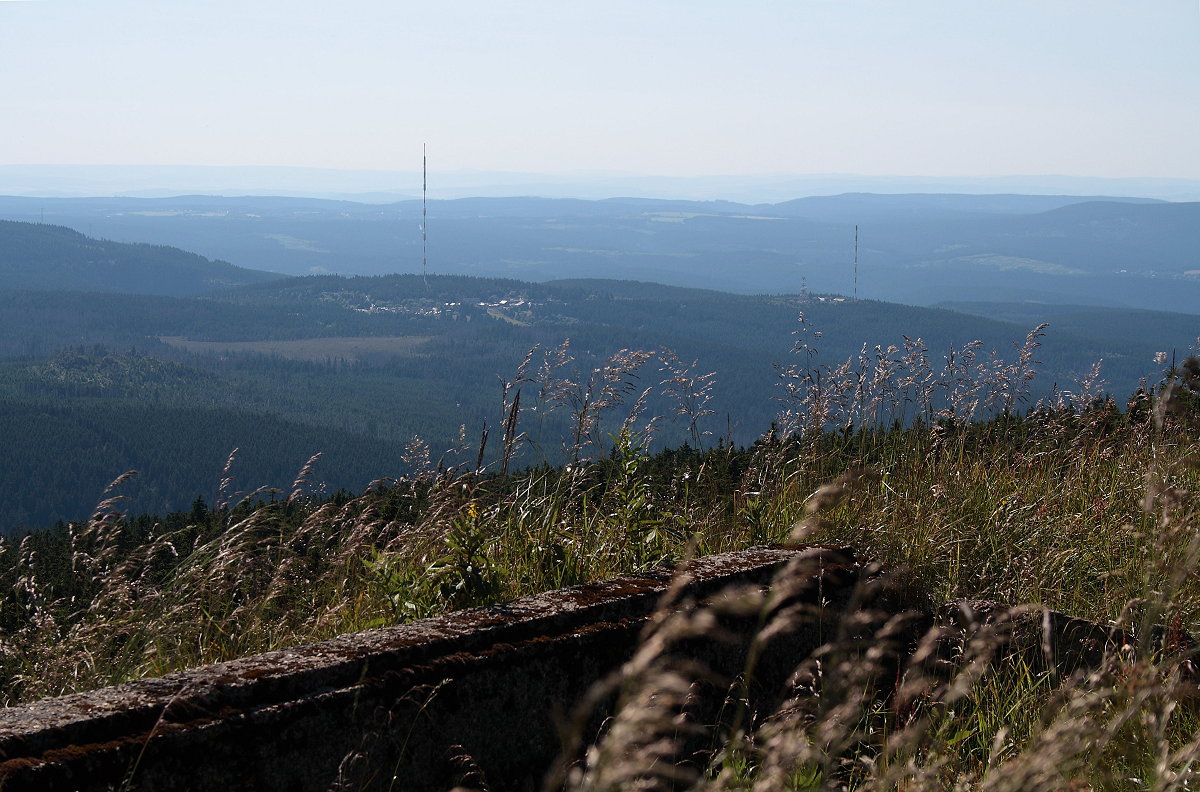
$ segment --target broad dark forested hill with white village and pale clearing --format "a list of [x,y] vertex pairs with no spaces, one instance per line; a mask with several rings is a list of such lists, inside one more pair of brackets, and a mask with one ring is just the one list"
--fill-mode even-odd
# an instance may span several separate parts
[[[1013,344],[1049,316],[1019,307],[966,306],[996,312],[985,318],[829,294],[437,275],[283,278],[204,296],[0,289],[0,533],[85,518],[128,469],[139,474],[122,486],[126,506],[161,514],[211,503],[230,476],[230,490],[290,492],[318,451],[326,491],[409,472],[414,437],[432,464],[473,466],[480,445],[494,463],[514,416],[514,464],[557,463],[578,443],[574,410],[588,410],[589,452],[602,452],[643,391],[643,420],[661,418],[655,448],[746,444],[797,407],[792,364],[890,382],[953,359],[954,377],[1009,377]],[[1124,398],[1156,374],[1158,352],[1195,341],[1187,316],[1120,319],[1051,324],[1021,407],[1079,391],[1099,359]],[[902,404],[895,418],[911,419],[917,408]]]

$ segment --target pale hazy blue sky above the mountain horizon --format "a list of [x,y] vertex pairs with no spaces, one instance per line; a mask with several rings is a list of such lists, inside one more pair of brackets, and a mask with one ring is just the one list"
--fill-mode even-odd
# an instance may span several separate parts
[[1198,0],[0,0],[0,164],[1200,178]]

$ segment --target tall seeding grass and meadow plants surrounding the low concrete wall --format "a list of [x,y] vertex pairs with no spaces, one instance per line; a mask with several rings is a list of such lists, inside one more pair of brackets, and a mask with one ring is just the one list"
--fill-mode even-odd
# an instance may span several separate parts
[[[437,456],[414,439],[414,473],[359,494],[317,494],[311,464],[289,492],[229,492],[232,456],[214,503],[136,517],[118,480],[90,521],[0,551],[0,695],[12,704],[767,542],[852,545],[930,608],[994,600],[1194,634],[1200,361],[1120,402],[1093,371],[1030,403],[1043,331],[1008,359],[966,344],[935,360],[904,338],[833,366],[815,362],[820,332],[802,318],[778,368],[779,419],[749,448],[710,433],[713,374],[666,350],[623,350],[575,378],[563,344],[530,350],[502,383],[493,428]],[[652,392],[673,414],[649,415]],[[526,467],[526,430],[547,415],[568,419],[570,462]],[[655,450],[666,421],[690,442]],[[738,607],[779,629],[772,595],[756,596]],[[1198,784],[1186,647],[1115,653],[1058,678],[989,662],[996,642],[980,630],[938,680],[918,648],[886,698],[871,647],[896,625],[863,618],[877,641],[833,641],[787,707],[713,727],[697,764],[672,758],[679,736],[704,726],[686,722],[690,680],[658,648],[708,622],[665,611],[626,668],[625,706],[563,782]]]

